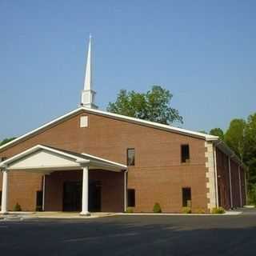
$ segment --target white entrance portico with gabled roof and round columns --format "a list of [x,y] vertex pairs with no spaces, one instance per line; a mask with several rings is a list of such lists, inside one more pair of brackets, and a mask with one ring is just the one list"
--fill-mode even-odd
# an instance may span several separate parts
[[[72,172],[82,172],[82,196],[81,196],[81,214],[88,215],[89,212],[89,173],[91,174],[118,174],[122,175],[123,190],[117,190],[116,193],[122,193],[123,209],[126,210],[126,170],[127,166],[118,162],[112,162],[104,158],[98,158],[90,154],[78,154],[68,150],[61,150],[51,146],[37,145],[29,150],[23,151],[20,154],[14,155],[12,158],[1,162],[2,170],[2,214],[8,213],[8,176],[10,172],[37,172],[44,177],[43,189],[43,205],[45,206],[47,186],[50,183],[45,183],[48,177],[54,173],[68,174]],[[55,175],[56,176],[56,175]],[[95,176],[95,175],[93,175]],[[111,175],[110,175],[111,177]],[[63,187],[58,187],[62,191]],[[107,193],[107,190],[105,190]],[[49,194],[49,193],[48,193]],[[53,193],[52,193],[53,194]],[[53,201],[48,196],[48,202]],[[43,207],[44,208],[44,207]]]

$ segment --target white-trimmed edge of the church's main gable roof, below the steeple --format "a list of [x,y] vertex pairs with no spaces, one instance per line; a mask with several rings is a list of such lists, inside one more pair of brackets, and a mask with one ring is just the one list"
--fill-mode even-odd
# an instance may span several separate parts
[[202,133],[198,133],[198,132],[195,132],[192,130],[186,130],[186,129],[182,129],[182,128],[178,128],[178,127],[174,127],[174,126],[163,125],[158,122],[150,122],[150,121],[146,121],[146,120],[142,120],[142,119],[138,119],[138,118],[131,118],[131,117],[128,117],[128,116],[125,116],[122,114],[114,114],[114,113],[110,113],[110,112],[106,112],[106,111],[102,111],[102,110],[94,110],[94,109],[90,109],[90,108],[81,106],[75,110],[68,112],[67,114],[64,114],[58,118],[55,118],[54,120],[52,120],[50,122],[47,122],[46,124],[44,124],[42,126],[39,126],[37,129],[31,130],[30,132],[23,134],[22,136],[19,136],[18,138],[15,138],[11,142],[8,142],[8,143],[0,146],[0,151],[5,150],[5,149],[9,148],[10,146],[17,144],[18,142],[22,142],[26,138],[30,138],[30,137],[34,136],[35,134],[39,134],[44,130],[50,129],[50,127],[56,126],[59,122],[63,122],[66,119],[79,114],[80,112],[81,113],[87,112],[87,113],[91,113],[91,114],[98,114],[98,115],[102,115],[105,117],[122,120],[125,122],[133,122],[133,123],[141,125],[141,126],[150,126],[155,129],[166,130],[166,131],[174,132],[176,134],[183,134],[183,135],[187,135],[187,136],[194,137],[194,138],[202,138],[202,139],[205,139],[206,141],[217,141],[218,140],[217,136],[213,136],[213,135],[209,135],[209,134],[202,134]]

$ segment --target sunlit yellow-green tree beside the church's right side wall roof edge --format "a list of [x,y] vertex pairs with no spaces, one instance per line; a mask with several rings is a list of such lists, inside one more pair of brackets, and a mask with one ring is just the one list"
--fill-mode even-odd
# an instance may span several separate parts
[[243,161],[245,154],[245,130],[246,121],[244,119],[234,119],[230,122],[230,127],[224,136],[225,142],[230,149]]

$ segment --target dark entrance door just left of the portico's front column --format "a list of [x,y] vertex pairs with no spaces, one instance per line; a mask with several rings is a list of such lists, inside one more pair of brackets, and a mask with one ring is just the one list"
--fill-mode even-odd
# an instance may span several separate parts
[[63,211],[82,210],[82,182],[64,182]]

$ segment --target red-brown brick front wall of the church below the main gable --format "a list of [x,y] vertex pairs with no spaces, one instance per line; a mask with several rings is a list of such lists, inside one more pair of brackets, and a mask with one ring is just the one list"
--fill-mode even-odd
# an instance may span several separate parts
[[[182,187],[187,186],[192,190],[193,210],[206,210],[208,200],[204,140],[96,114],[87,115],[88,128],[79,127],[78,114],[3,150],[0,157],[11,157],[31,146],[44,144],[126,164],[126,149],[135,148],[136,165],[129,167],[128,174],[128,187],[136,190],[135,211],[152,212],[154,203],[159,202],[164,212],[180,212]],[[182,164],[180,146],[187,143],[190,144],[190,163]],[[22,178],[18,175],[22,175]],[[11,175],[9,207],[13,207],[18,200],[26,210],[34,210],[35,191],[41,182],[39,174]],[[1,186],[2,181],[0,189]],[[113,196],[109,195],[109,201],[114,200]]]

